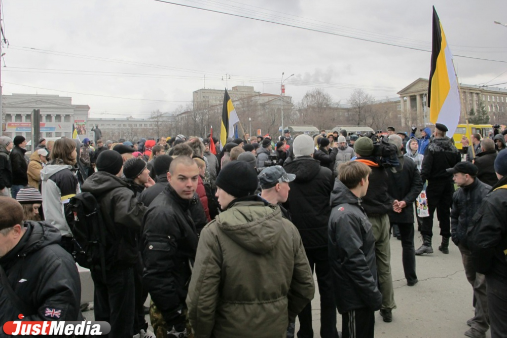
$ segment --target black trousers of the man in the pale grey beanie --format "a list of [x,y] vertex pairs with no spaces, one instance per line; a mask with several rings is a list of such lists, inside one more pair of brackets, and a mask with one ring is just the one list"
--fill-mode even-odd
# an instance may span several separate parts
[[[315,274],[317,275],[320,293],[320,336],[322,338],[338,338],[336,305],[328,248],[306,249],[306,256],[308,257],[312,273],[315,270]],[[298,338],[313,338],[311,303],[308,303],[303,311],[301,311],[298,318],[300,324]]]

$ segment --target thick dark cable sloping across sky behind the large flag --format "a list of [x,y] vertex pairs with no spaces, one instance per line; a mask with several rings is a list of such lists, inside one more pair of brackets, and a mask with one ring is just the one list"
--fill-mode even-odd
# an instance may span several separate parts
[[[246,16],[246,15],[241,15],[241,14],[227,13],[227,12],[222,12],[222,11],[217,11],[217,10],[197,7],[197,6],[178,4],[178,3],[173,3],[173,2],[166,1],[166,0],[155,0],[155,1],[161,2],[161,3],[165,3],[165,4],[170,4],[170,5],[176,5],[176,6],[182,6],[182,7],[202,10],[202,11],[206,11],[206,12],[212,12],[212,13],[218,13],[218,14],[225,14],[225,15],[235,16],[235,17],[239,17],[239,18],[243,18],[243,19],[250,19],[250,20],[255,20],[255,21],[273,23],[273,24],[281,25],[281,26],[285,26],[285,27],[299,28],[299,29],[303,29],[303,30],[317,32],[317,33],[324,33],[324,34],[330,34],[330,35],[336,35],[336,36],[342,36],[342,37],[349,37],[350,39],[355,39],[355,40],[360,40],[360,41],[366,41],[366,42],[373,42],[373,43],[377,43],[377,44],[381,44],[381,45],[386,45],[386,46],[400,47],[400,48],[411,49],[411,50],[416,50],[416,51],[421,51],[421,52],[428,52],[428,53],[431,52],[429,50],[422,49],[422,48],[417,48],[417,47],[403,46],[403,45],[400,45],[400,44],[394,44],[394,43],[376,41],[376,40],[372,40],[372,39],[366,39],[364,37],[350,36],[350,35],[346,35],[346,34],[340,34],[340,33],[335,33],[335,32],[330,32],[330,31],[324,31],[324,30],[321,30],[321,29],[315,29],[315,28],[308,28],[308,27],[297,26],[297,25],[293,25],[293,24],[289,24],[289,23],[275,22],[275,21],[271,21],[271,20],[267,20],[267,19],[260,19],[260,18],[253,18],[253,17],[249,17],[249,16]],[[492,61],[492,62],[507,63],[507,61],[502,61],[502,60],[492,60],[492,59],[478,58],[478,57],[466,56],[466,55],[458,55],[458,54],[453,54],[453,55],[456,56],[456,57],[462,57],[462,58],[467,58],[467,59],[475,59],[475,60],[483,60],[483,61]]]

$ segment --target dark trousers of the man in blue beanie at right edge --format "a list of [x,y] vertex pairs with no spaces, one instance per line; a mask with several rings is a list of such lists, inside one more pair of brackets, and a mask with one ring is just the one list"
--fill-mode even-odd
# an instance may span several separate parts
[[491,338],[507,338],[507,284],[486,275]]

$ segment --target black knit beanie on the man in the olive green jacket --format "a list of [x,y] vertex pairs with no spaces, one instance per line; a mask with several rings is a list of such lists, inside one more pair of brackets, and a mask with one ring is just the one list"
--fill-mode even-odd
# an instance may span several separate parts
[[258,185],[257,172],[243,161],[228,163],[216,177],[216,186],[236,198],[255,194]]

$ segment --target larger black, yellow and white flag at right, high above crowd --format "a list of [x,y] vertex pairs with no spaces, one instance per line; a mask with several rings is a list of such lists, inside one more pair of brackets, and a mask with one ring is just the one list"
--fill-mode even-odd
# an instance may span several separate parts
[[428,87],[429,121],[447,126],[452,137],[459,122],[461,104],[452,54],[433,6],[433,39]]

